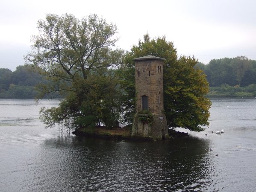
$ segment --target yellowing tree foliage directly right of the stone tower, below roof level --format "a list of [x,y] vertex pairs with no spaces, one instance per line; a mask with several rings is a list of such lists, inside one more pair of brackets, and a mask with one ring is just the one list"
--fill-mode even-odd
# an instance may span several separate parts
[[[167,67],[164,73],[164,108],[170,127],[203,131],[209,125],[211,102],[206,98],[209,84],[206,75],[195,69],[195,58],[181,56],[175,70]],[[169,76],[174,76],[173,80]]]

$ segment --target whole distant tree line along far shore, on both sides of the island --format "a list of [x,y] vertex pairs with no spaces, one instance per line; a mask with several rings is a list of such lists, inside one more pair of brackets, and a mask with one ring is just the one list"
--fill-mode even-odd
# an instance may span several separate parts
[[[198,62],[197,67],[206,74],[208,96],[256,96],[255,60],[244,56],[212,59],[209,64]],[[0,98],[34,99],[40,93],[36,85],[44,81],[31,65],[18,66],[14,72],[0,68]]]

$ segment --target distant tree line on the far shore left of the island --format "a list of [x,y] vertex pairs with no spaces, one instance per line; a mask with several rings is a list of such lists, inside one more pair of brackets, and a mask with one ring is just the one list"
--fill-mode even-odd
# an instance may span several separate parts
[[43,81],[42,76],[30,65],[18,66],[14,72],[0,69],[0,98],[34,99],[38,95],[35,85]]

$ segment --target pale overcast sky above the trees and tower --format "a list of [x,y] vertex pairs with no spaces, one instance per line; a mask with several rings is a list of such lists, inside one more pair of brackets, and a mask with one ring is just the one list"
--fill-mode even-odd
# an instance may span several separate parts
[[119,29],[118,47],[129,50],[147,32],[166,36],[178,55],[256,60],[255,0],[3,0],[0,2],[0,68],[15,70],[30,50],[37,21],[48,13],[81,19],[97,14]]

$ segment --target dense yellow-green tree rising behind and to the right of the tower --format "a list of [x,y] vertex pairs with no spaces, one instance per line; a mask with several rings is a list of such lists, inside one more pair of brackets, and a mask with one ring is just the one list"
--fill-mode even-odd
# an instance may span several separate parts
[[[211,102],[205,97],[209,91],[206,75],[202,70],[194,68],[197,60],[194,57],[177,57],[173,42],[165,37],[150,39],[144,35],[144,41],[133,46],[126,54],[125,63],[131,75],[123,76],[123,85],[127,95],[135,98],[132,90],[135,84],[133,58],[154,55],[165,58],[164,61],[164,109],[168,127],[182,127],[191,131],[203,131],[201,126],[209,125],[209,108]],[[131,73],[132,72],[132,73]],[[129,83],[127,83],[129,82]],[[134,106],[130,100],[127,106]]]

